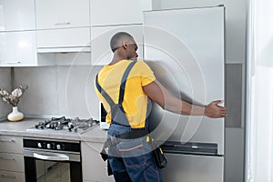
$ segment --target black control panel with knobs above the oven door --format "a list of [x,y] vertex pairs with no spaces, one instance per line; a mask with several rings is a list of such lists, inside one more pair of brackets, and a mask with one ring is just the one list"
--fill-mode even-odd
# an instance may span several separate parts
[[44,150],[62,150],[70,152],[80,152],[80,142],[66,142],[40,139],[23,139],[24,147],[39,148]]

